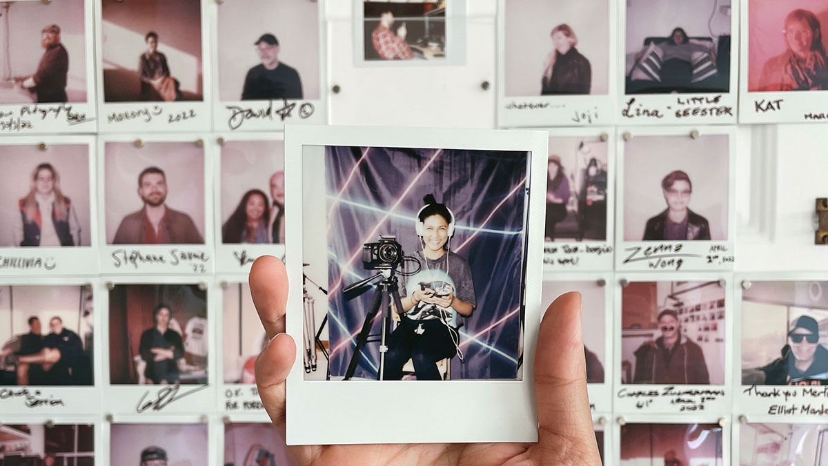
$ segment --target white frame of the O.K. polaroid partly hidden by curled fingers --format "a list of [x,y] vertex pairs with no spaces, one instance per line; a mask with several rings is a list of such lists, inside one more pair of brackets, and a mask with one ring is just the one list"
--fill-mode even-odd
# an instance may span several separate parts
[[[247,275],[218,275],[213,289],[213,299],[217,309],[216,314],[224,316],[224,290],[229,286],[248,283]],[[216,396],[216,409],[226,415],[241,416],[243,419],[250,419],[250,422],[268,420],[267,412],[264,410],[262,400],[258,396],[256,384],[231,384],[224,382],[224,328],[223,324],[214,326],[215,334],[213,341],[216,342],[215,371],[216,381],[219,386],[219,394]],[[296,357],[301,356],[297,350]],[[233,417],[235,419],[235,417]],[[219,457],[223,458],[223,457]]]

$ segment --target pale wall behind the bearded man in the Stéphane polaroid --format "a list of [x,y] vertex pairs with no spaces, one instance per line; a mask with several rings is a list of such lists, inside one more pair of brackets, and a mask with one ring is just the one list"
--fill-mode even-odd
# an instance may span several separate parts
[[[138,175],[156,166],[166,174],[166,206],[183,211],[205,235],[205,154],[195,143],[106,143],[104,148],[106,240],[115,238],[124,216],[143,208],[137,193]],[[212,187],[212,185],[210,185]]]

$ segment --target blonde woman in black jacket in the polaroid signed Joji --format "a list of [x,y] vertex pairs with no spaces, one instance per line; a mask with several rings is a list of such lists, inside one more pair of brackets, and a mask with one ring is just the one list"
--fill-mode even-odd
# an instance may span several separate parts
[[590,61],[578,49],[572,28],[559,24],[551,32],[553,50],[546,57],[541,80],[541,95],[590,94]]

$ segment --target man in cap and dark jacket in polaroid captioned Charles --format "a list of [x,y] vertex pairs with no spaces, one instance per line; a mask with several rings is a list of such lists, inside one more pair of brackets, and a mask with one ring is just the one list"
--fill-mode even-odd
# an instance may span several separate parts
[[681,333],[676,311],[662,310],[657,321],[662,336],[635,351],[633,383],[710,385],[704,352]]

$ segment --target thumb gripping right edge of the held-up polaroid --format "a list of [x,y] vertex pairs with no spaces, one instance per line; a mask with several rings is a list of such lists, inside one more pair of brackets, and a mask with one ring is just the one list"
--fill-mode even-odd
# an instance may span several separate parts
[[[580,294],[546,309],[535,351],[535,399],[542,464],[601,464],[586,391]],[[566,455],[566,457],[561,457]]]

